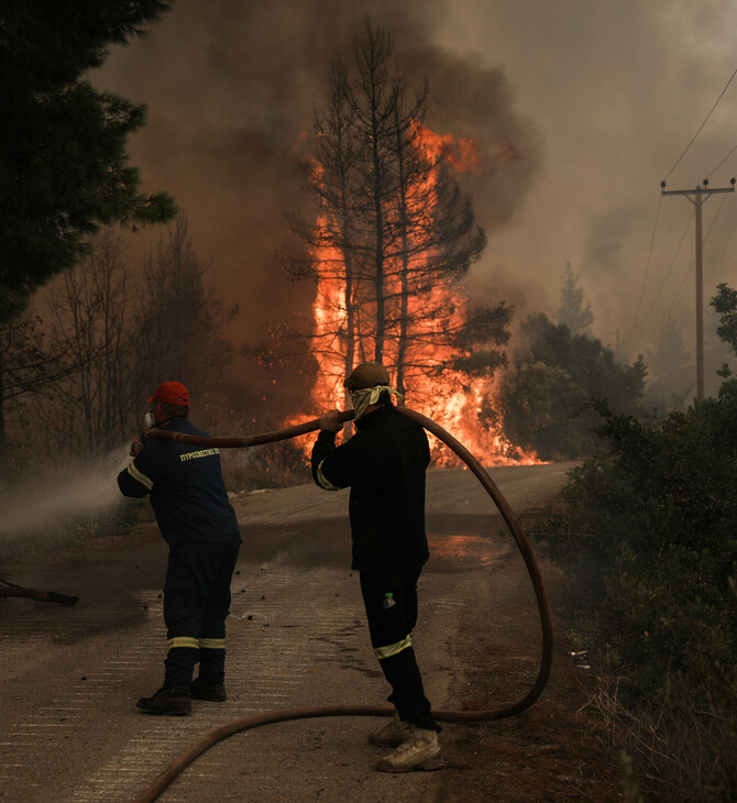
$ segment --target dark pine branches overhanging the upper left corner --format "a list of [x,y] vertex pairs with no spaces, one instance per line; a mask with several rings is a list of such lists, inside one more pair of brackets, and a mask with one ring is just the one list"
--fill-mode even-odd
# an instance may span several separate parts
[[81,80],[110,44],[142,35],[165,0],[38,0],[3,7],[0,35],[0,322],[72,267],[101,224],[168,220],[173,199],[144,195],[128,135],[144,108]]

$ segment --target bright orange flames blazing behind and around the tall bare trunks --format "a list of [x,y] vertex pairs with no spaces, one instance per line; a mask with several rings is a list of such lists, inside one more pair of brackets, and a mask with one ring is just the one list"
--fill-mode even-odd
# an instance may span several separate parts
[[[422,148],[435,157],[436,162],[442,160],[457,172],[480,170],[480,156],[473,140],[453,140],[449,135],[436,134],[419,124],[415,129],[415,134]],[[499,157],[514,156],[502,154]],[[320,167],[317,166],[317,169]],[[435,180],[432,174],[428,180]],[[318,227],[324,226],[326,222],[319,220]],[[315,257],[321,264],[342,264],[341,253],[329,246],[316,249]],[[398,282],[394,278],[397,274],[398,271],[387,271],[388,294],[394,296],[398,295],[398,288],[392,287],[393,282],[395,284]],[[442,343],[443,331],[460,327],[468,316],[469,302],[462,284],[457,279],[437,282],[428,294],[421,301],[411,295],[408,297],[408,318],[421,319],[424,329],[422,337],[413,342],[411,353],[404,354],[404,364],[413,366],[405,371],[405,404],[438,422],[487,465],[540,462],[534,453],[526,453],[509,443],[501,433],[498,426],[495,426],[498,409],[495,413],[494,378],[474,378],[447,367],[448,361],[458,356],[458,350]],[[428,318],[427,315],[422,315],[427,309],[442,310],[442,315]],[[314,305],[312,355],[318,363],[318,371],[310,393],[312,410],[345,409],[351,406],[350,397],[346,397],[343,388],[346,365],[346,316],[345,284],[340,280],[338,271],[326,272],[326,275],[320,275],[318,279]],[[360,321],[358,326],[361,331]],[[396,378],[398,362],[397,342],[396,337],[386,338],[382,359],[393,380]],[[373,359],[373,338],[365,336],[358,338],[352,364]],[[299,419],[293,418],[288,424],[312,417],[314,413]],[[431,451],[436,465],[451,465],[457,462],[455,455],[432,437]]]

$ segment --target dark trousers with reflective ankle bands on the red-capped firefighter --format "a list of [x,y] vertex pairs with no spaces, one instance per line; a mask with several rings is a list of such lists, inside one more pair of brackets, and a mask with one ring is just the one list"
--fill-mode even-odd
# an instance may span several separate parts
[[224,679],[226,619],[240,547],[240,540],[190,541],[169,549],[164,585],[165,688],[188,690],[198,661],[204,682]]

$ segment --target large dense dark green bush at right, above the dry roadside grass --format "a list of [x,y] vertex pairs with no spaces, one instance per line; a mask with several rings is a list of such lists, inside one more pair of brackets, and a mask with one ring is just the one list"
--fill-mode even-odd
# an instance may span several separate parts
[[703,698],[737,661],[737,383],[660,420],[601,411],[602,449],[572,472],[547,550],[632,695],[672,672]]

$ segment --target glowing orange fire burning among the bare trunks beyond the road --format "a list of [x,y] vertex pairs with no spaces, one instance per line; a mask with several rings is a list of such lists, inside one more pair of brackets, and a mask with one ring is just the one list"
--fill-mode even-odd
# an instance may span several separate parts
[[[455,172],[479,172],[481,160],[473,140],[453,140],[439,135],[417,124],[414,129],[420,147],[433,164],[444,164]],[[406,202],[420,202],[432,191],[438,173],[430,172],[422,186],[410,187]],[[316,170],[319,175],[320,167]],[[391,215],[388,216],[391,218]],[[318,220],[318,229],[324,230],[331,223]],[[389,220],[391,223],[391,220]],[[422,254],[422,250],[417,252]],[[318,363],[317,376],[310,392],[312,410],[346,409],[350,397],[343,389],[346,366],[375,359],[375,333],[371,320],[375,315],[375,301],[363,299],[353,292],[353,316],[349,324],[346,304],[345,265],[342,253],[331,246],[314,249],[315,261],[329,266],[318,278],[314,305],[312,355]],[[430,258],[427,253],[413,260]],[[382,363],[389,370],[394,386],[405,388],[407,407],[431,418],[458,438],[479,460],[487,465],[531,464],[539,462],[534,453],[526,453],[509,443],[495,426],[495,385],[491,378],[472,377],[452,370],[449,362],[462,355],[453,345],[452,334],[460,331],[466,320],[469,300],[460,278],[435,277],[431,286],[422,293],[403,293],[403,280],[407,273],[421,275],[421,265],[415,262],[408,272],[400,257],[388,257],[385,271],[386,298],[395,305],[389,317],[383,344]],[[413,279],[410,279],[413,280]],[[420,279],[421,280],[421,279]],[[356,283],[358,285],[359,283]],[[400,300],[406,299],[406,311],[398,311]],[[400,321],[405,321],[404,334]],[[354,337],[350,338],[349,332]],[[409,337],[407,337],[409,332]],[[349,353],[349,349],[351,352]],[[398,365],[403,365],[402,382],[398,382]],[[498,414],[498,410],[496,410]],[[287,424],[298,424],[312,416],[292,418]],[[431,437],[431,450],[436,465],[451,465],[458,462],[455,455],[440,441]]]

